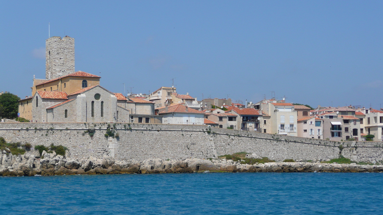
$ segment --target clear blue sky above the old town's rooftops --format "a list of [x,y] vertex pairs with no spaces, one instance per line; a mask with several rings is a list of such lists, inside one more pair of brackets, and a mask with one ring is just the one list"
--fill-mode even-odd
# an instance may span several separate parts
[[[381,1],[2,1],[0,91],[31,94],[45,40],[75,38],[75,70],[113,92],[383,103]],[[383,104],[382,104],[383,107]]]

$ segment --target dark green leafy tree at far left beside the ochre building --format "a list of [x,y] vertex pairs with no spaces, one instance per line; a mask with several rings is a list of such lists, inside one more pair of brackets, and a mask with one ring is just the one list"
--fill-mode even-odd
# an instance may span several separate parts
[[20,98],[12,93],[3,93],[0,96],[0,116],[7,119],[17,117]]

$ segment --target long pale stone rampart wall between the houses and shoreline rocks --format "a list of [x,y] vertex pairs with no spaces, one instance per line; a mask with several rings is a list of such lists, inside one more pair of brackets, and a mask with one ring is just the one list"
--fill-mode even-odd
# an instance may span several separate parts
[[[104,136],[108,123],[0,123],[0,136],[8,142],[49,146],[64,145],[73,158],[104,155],[118,160],[159,158],[216,158],[246,151],[276,161],[327,160],[342,155],[354,161],[383,160],[382,142],[334,142],[232,129],[208,125],[116,123],[118,138]],[[113,123],[111,123],[113,127]],[[26,129],[28,127],[28,129]],[[86,131],[95,128],[91,138]],[[28,151],[34,155],[34,149]]]

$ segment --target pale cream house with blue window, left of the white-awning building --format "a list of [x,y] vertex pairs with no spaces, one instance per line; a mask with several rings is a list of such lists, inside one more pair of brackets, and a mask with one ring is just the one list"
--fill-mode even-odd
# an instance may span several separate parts
[[323,120],[316,116],[299,119],[298,137],[323,139]]

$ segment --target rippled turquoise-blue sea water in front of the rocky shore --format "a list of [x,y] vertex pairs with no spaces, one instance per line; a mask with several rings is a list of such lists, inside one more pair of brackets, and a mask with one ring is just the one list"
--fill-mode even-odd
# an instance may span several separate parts
[[0,177],[0,214],[383,214],[382,173]]

